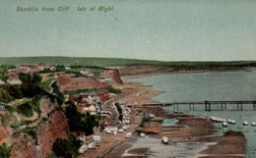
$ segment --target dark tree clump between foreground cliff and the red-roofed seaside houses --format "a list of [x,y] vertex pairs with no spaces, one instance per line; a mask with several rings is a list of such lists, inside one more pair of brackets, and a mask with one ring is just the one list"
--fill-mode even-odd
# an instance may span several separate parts
[[96,117],[90,113],[84,114],[77,110],[73,102],[67,102],[65,115],[68,119],[69,130],[71,132],[85,132],[86,135],[94,133],[94,128],[98,126]]

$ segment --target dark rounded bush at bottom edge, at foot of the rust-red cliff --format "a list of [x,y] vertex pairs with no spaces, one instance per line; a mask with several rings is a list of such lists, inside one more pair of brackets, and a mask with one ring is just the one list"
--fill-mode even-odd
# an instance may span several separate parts
[[[51,149],[57,157],[73,158],[78,154],[82,142],[75,136],[70,135],[68,139],[57,138]],[[51,155],[52,156],[52,155]]]

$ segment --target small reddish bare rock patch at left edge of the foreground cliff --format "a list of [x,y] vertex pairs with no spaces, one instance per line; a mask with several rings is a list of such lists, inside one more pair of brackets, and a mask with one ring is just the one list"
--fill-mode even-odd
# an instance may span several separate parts
[[[0,112],[0,144],[6,142],[7,144],[11,144],[12,140],[12,129],[10,128],[9,122],[7,121],[7,113]],[[3,118],[2,118],[3,117]],[[4,125],[2,125],[4,123]]]

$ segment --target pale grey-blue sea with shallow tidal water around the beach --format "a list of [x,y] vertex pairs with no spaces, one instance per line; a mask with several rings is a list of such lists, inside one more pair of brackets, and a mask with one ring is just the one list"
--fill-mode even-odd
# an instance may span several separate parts
[[[189,101],[237,101],[256,100],[256,70],[237,72],[206,72],[206,73],[184,73],[159,75],[128,81],[142,82],[151,85],[153,89],[163,91],[154,99],[160,102],[189,102]],[[223,134],[228,130],[243,132],[247,139],[246,157],[256,157],[256,127],[252,127],[251,122],[256,122],[256,110],[252,105],[243,105],[243,110],[237,111],[236,105],[227,104],[226,110],[221,110],[222,105],[212,105],[211,111],[205,111],[204,105],[194,105],[194,110],[189,110],[188,105],[179,105],[178,112],[190,114],[198,117],[218,118],[235,120],[235,125],[216,123],[218,134]],[[169,113],[177,111],[172,106],[164,107]],[[243,126],[243,122],[248,121],[248,126]],[[165,119],[163,126],[173,126],[175,119]],[[162,145],[157,138],[138,138],[131,148],[148,147],[152,154],[149,157],[199,157],[204,156],[200,151],[207,148],[211,143],[198,142],[178,142],[172,145]],[[128,150],[127,150],[128,151]],[[124,153],[124,155],[129,153]]]

